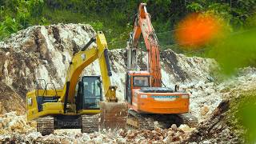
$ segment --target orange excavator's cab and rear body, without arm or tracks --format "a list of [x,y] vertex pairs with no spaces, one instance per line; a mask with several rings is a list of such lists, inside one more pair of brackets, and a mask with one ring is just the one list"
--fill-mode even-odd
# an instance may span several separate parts
[[189,112],[190,94],[169,87],[152,87],[147,71],[128,71],[126,100],[142,114],[183,114]]

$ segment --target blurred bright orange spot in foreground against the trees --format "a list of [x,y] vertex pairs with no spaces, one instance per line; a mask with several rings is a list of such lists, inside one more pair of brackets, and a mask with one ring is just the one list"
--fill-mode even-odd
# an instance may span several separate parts
[[175,36],[181,46],[196,49],[210,42],[219,30],[218,19],[214,16],[190,14],[178,24]]

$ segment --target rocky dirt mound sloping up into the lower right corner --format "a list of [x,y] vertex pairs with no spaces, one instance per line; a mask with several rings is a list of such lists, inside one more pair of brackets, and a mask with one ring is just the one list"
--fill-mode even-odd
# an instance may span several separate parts
[[222,94],[222,102],[213,113],[207,114],[186,142],[246,143],[246,129],[238,121],[237,114],[241,109],[238,106],[253,99],[250,97],[255,96],[255,88],[256,69],[251,67],[242,69],[233,78],[218,83],[216,91]]

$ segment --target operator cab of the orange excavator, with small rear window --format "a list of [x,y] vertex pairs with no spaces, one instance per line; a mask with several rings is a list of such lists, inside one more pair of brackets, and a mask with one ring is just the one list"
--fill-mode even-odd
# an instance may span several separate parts
[[150,73],[148,71],[128,71],[126,73],[126,101],[131,104],[133,89],[150,87]]

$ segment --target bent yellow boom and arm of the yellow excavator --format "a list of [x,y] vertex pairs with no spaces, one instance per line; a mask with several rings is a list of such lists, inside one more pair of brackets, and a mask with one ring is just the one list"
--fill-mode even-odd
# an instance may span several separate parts
[[89,66],[90,63],[94,62],[96,59],[98,59],[100,65],[104,89],[103,91],[106,100],[108,102],[118,101],[115,95],[115,90],[117,89],[117,86],[112,86],[110,81],[112,73],[110,70],[106,38],[104,34],[99,33],[97,34],[96,38],[91,38],[90,42],[88,43],[90,44],[92,42],[96,42],[97,47],[89,50],[85,50],[85,48],[83,48],[77,54],[74,54],[74,57],[70,62],[70,66],[66,74],[66,85],[63,89],[65,93],[63,92],[60,97],[61,102],[64,102],[64,107],[66,106],[67,102],[74,102],[75,86],[78,83],[78,78],[80,77],[82,70],[84,70],[86,66]]

